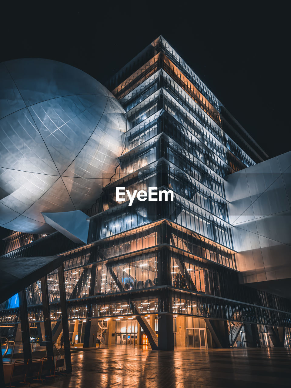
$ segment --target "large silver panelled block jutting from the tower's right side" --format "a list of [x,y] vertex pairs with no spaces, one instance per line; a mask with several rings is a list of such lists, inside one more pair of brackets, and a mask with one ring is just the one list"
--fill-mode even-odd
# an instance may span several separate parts
[[237,269],[245,282],[291,278],[290,165],[287,152],[227,177]]

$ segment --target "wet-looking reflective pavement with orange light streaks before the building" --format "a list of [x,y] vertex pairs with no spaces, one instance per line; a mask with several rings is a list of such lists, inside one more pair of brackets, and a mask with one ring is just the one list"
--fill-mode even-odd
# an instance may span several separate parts
[[[289,349],[187,349],[152,351],[106,346],[72,355],[73,372],[45,387],[280,387],[291,386]],[[40,385],[31,385],[33,387]]]

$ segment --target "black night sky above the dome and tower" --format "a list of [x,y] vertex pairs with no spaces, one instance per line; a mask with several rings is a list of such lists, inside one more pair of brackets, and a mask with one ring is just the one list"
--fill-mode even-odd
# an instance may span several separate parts
[[163,35],[270,157],[290,150],[287,3],[28,4],[2,9],[0,62],[54,59],[104,83]]

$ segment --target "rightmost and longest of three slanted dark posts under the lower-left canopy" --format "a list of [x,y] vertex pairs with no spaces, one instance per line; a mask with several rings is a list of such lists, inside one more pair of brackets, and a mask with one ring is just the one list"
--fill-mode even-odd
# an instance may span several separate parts
[[64,352],[65,352],[65,361],[66,361],[66,371],[72,371],[72,361],[71,361],[71,344],[70,344],[70,334],[69,334],[69,322],[68,322],[68,308],[66,301],[66,286],[65,286],[65,275],[64,275],[64,266],[58,268],[59,275],[59,290],[60,290],[60,304],[62,312],[62,336],[64,338]]

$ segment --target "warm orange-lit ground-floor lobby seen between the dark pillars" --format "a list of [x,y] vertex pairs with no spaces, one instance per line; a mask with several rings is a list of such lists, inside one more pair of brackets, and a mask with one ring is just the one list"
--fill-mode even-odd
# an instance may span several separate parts
[[[144,319],[158,336],[158,314],[144,315]],[[72,338],[73,346],[84,345],[86,322],[87,319],[69,320],[69,335]],[[264,325],[253,325],[256,329],[257,340],[251,343],[248,333],[246,333],[246,329],[248,329],[246,324],[231,320],[220,323],[222,323],[220,326],[223,329],[220,334],[225,337],[225,343],[222,344],[223,348],[236,346],[268,348],[274,346],[267,327]],[[55,325],[55,322],[53,322],[53,325]],[[41,328],[42,324],[39,327]],[[149,345],[148,338],[135,316],[92,319],[90,328],[87,328],[87,330],[90,331],[91,339],[100,339],[101,345]],[[213,340],[209,323],[202,318],[173,315],[173,328],[171,330],[173,330],[174,346],[177,349],[180,347],[201,349],[220,347]],[[61,326],[59,331],[55,331],[55,333],[53,340],[55,345],[59,346],[62,336]],[[44,338],[44,332],[42,337]],[[291,347],[291,330],[289,328],[286,328],[284,334],[284,345],[285,347]],[[95,341],[90,341],[90,345],[87,346],[95,347]]]

